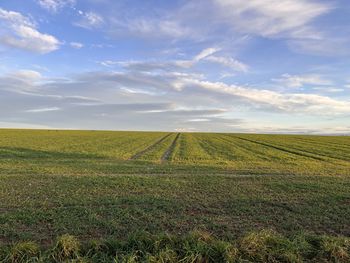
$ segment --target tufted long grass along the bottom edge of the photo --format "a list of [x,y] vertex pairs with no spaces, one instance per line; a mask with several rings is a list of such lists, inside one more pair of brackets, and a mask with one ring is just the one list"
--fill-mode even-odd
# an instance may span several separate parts
[[7,262],[349,262],[350,238],[297,235],[287,239],[273,231],[249,233],[223,241],[204,232],[186,236],[139,234],[126,241],[104,240],[81,244],[71,235],[42,249],[35,242],[0,247]]

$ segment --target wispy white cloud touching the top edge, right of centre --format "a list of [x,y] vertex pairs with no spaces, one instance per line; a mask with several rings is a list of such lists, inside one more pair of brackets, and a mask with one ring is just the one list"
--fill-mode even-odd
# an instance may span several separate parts
[[330,4],[309,0],[214,0],[226,23],[236,31],[265,37],[288,34],[309,37],[310,23],[332,9]]

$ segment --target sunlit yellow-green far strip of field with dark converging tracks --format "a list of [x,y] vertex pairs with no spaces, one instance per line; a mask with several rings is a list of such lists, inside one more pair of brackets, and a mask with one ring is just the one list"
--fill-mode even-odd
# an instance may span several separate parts
[[[37,163],[36,170],[75,160],[75,166],[96,164],[90,171],[106,171],[101,164],[135,167],[167,164],[174,167],[216,167],[244,173],[349,174],[350,138],[214,133],[107,131],[0,131],[0,168],[19,170]],[[46,162],[43,164],[43,160]],[[85,162],[85,163],[84,163]],[[15,164],[14,164],[15,163]],[[67,170],[75,169],[71,167]],[[66,167],[67,168],[67,167]],[[140,166],[142,170],[142,167]],[[158,168],[157,168],[158,169]],[[161,168],[159,168],[161,169]],[[13,170],[13,169],[12,169]],[[79,170],[79,169],[78,169]],[[118,173],[120,169],[107,168]],[[118,170],[118,171],[116,171]],[[47,170],[45,170],[47,171]]]

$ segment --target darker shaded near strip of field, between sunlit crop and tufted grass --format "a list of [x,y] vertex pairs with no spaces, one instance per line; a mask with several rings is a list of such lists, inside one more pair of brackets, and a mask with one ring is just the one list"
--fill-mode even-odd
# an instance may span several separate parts
[[123,238],[138,231],[222,238],[272,228],[350,236],[350,177],[0,176],[0,242]]

